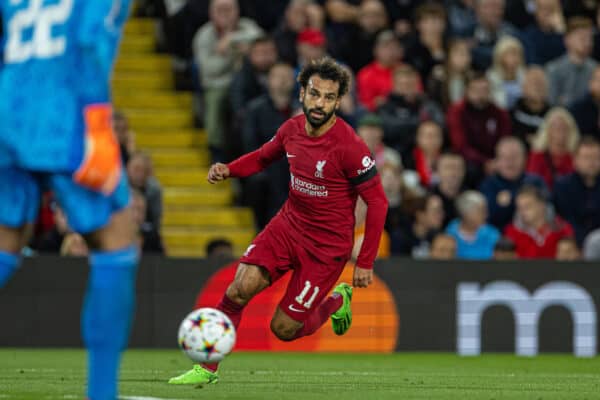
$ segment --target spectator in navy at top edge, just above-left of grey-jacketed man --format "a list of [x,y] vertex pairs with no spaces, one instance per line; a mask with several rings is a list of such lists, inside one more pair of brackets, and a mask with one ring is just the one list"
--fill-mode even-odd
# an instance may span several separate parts
[[536,0],[535,22],[521,33],[528,64],[545,65],[565,53],[560,0]]

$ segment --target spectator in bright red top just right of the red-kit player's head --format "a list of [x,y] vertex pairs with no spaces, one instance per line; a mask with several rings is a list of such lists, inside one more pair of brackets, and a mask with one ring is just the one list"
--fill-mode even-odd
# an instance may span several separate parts
[[400,64],[402,47],[394,32],[379,33],[375,40],[375,60],[362,68],[356,76],[358,100],[369,111],[383,104],[393,87],[393,71]]

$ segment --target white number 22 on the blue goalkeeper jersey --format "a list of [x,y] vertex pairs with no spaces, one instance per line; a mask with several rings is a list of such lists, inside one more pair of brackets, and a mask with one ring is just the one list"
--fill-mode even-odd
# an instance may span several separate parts
[[[18,6],[27,0],[9,0]],[[6,21],[8,39],[4,62],[15,64],[31,58],[47,59],[62,55],[67,48],[64,35],[52,36],[52,28],[63,24],[71,15],[73,0],[59,0],[56,4],[43,5],[44,0],[29,0],[29,7],[18,10]],[[25,32],[32,32],[25,39]]]

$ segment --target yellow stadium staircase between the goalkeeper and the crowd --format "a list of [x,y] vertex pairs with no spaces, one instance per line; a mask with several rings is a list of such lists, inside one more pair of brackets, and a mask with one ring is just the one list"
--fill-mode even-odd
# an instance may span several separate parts
[[167,253],[201,257],[211,239],[222,237],[241,254],[255,234],[252,212],[231,206],[230,182],[206,182],[206,134],[193,127],[192,94],[174,91],[171,60],[155,52],[154,31],[152,19],[127,23],[112,86],[115,107],[129,118],[137,147],[151,155],[164,188]]

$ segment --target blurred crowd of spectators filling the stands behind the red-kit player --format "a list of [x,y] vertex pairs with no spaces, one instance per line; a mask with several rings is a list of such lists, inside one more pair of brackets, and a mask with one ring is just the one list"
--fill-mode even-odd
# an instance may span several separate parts
[[[388,196],[381,256],[600,258],[599,1],[138,3],[159,21],[177,89],[197,95],[213,162],[302,112],[295,77],[307,62],[348,68],[338,115],[372,150]],[[122,142],[144,223],[160,226],[146,158]],[[241,182],[258,229],[288,177],[282,160]]]

